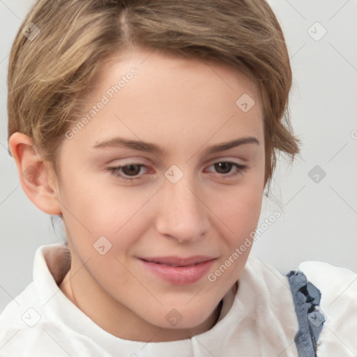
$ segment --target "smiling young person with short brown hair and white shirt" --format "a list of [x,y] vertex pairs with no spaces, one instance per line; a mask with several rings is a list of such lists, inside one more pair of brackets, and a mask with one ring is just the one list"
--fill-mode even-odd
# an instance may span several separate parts
[[38,248],[1,356],[355,356],[355,273],[249,256],[275,152],[298,153],[290,87],[266,1],[38,1],[9,149],[67,241]]

